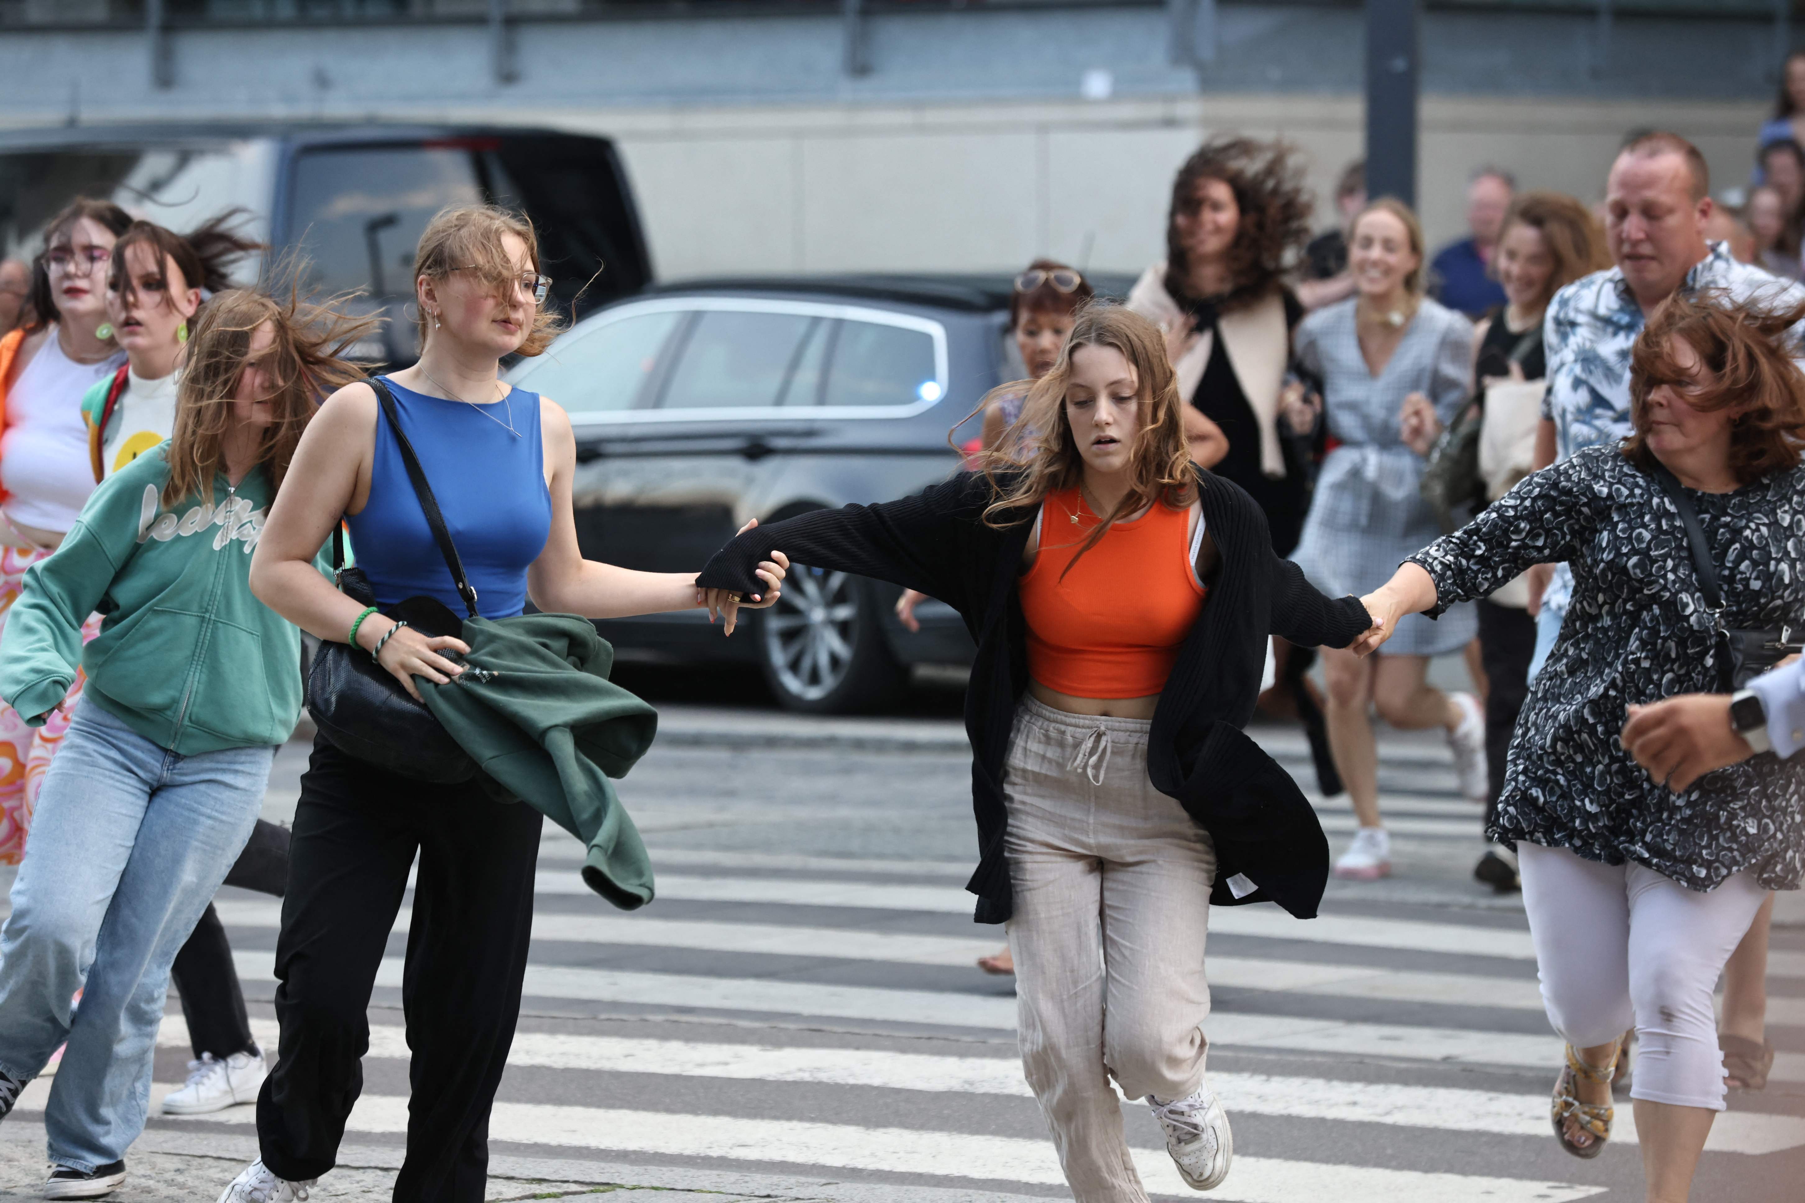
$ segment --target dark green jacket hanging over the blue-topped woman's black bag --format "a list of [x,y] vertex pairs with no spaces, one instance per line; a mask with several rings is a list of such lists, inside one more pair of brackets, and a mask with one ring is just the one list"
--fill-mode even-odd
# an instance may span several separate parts
[[588,619],[466,619],[464,675],[413,682],[477,767],[588,846],[583,882],[634,911],[652,902],[652,860],[608,777],[646,754],[659,716],[608,680],[614,647]]

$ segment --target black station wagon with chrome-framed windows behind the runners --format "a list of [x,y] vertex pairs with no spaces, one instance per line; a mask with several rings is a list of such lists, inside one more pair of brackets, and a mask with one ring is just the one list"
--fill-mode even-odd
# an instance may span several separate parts
[[[583,554],[693,572],[740,525],[888,501],[958,469],[948,431],[1020,375],[1007,280],[847,276],[657,287],[581,321],[509,379],[570,411]],[[975,438],[964,424],[955,442]],[[783,705],[870,709],[913,664],[964,664],[948,606],[921,631],[899,590],[796,568],[782,601],[720,638],[700,611],[599,622],[623,658],[753,658]],[[747,638],[749,635],[749,638]]]

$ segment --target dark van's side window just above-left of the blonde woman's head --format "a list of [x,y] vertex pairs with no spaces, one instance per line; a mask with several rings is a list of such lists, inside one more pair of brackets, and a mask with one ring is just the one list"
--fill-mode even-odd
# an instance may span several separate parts
[[413,251],[449,204],[482,204],[462,148],[357,146],[294,161],[291,229],[321,292],[413,296]]

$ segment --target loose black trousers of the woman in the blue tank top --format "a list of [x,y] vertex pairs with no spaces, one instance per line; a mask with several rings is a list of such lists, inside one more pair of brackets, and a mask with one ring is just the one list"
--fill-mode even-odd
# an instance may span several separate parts
[[430,785],[325,739],[301,776],[276,941],[280,1059],[256,1100],[264,1165],[332,1169],[363,1091],[368,1006],[419,851],[403,1008],[413,1061],[395,1203],[480,1203],[489,1107],[520,1017],[540,812]]

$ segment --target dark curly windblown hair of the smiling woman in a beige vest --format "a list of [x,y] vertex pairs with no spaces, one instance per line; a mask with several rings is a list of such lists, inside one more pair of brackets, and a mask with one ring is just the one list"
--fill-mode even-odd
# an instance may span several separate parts
[[1314,200],[1303,188],[1303,168],[1285,142],[1217,137],[1204,142],[1171,182],[1166,213],[1166,292],[1188,296],[1191,265],[1179,238],[1179,215],[1197,207],[1197,184],[1222,180],[1235,193],[1240,227],[1229,247],[1229,294],[1224,310],[1253,305],[1278,287],[1291,262],[1310,240]]

